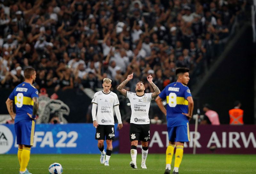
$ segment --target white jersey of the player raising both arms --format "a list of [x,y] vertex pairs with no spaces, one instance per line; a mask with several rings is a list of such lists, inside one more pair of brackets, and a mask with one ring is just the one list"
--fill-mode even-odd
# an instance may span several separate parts
[[145,93],[143,96],[137,96],[136,93],[127,91],[126,97],[129,98],[131,103],[131,123],[149,124],[148,111],[150,102],[153,100],[152,93]]

